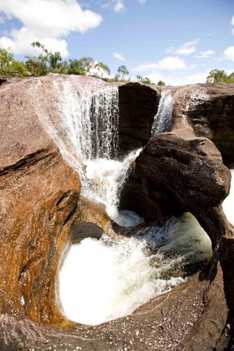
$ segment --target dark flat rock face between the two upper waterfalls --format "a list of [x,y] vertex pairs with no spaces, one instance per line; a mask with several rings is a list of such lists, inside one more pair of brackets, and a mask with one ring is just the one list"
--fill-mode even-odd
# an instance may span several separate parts
[[119,87],[119,139],[121,154],[145,146],[158,111],[160,92],[139,83]]

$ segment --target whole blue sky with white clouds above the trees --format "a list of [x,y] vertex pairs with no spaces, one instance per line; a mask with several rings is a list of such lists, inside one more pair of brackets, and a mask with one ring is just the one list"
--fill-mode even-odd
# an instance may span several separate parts
[[0,47],[18,58],[38,40],[63,57],[124,64],[167,84],[234,71],[234,0],[0,0]]

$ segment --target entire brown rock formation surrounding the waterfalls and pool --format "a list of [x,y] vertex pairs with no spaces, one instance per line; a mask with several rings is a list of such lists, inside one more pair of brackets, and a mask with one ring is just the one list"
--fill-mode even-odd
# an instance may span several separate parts
[[[233,84],[118,85],[120,155],[143,148],[120,207],[158,224],[190,212],[209,235],[213,257],[187,282],[96,327],[64,316],[62,262],[87,231],[119,239],[131,230],[80,195],[79,172],[42,124],[45,108],[58,123],[56,94],[67,85],[78,98],[112,86],[83,76],[1,78],[0,349],[234,349],[234,229],[222,210],[230,188],[226,166],[234,162]],[[172,126],[151,136],[160,97],[169,89]]]

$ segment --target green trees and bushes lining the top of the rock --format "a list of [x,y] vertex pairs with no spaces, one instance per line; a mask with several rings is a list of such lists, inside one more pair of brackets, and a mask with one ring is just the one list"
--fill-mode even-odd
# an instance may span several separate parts
[[[125,65],[121,65],[112,78],[111,71],[107,64],[95,61],[92,57],[83,56],[80,59],[69,58],[62,60],[60,52],[49,51],[40,42],[31,43],[32,47],[38,51],[37,56],[25,56],[25,60],[19,61],[14,58],[11,48],[0,48],[0,75],[28,77],[46,76],[49,73],[64,75],[83,75],[103,79],[107,82],[130,82],[129,71]],[[138,83],[147,85],[165,86],[162,80],[154,83],[148,77],[136,76]],[[224,70],[212,69],[206,78],[206,83],[234,83],[234,72],[228,75]]]

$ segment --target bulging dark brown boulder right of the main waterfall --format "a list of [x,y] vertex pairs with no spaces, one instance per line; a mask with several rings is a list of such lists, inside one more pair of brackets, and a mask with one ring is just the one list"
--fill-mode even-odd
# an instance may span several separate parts
[[[164,191],[165,206],[159,200],[163,217],[168,214],[167,204],[170,203],[175,212],[190,212],[202,222],[229,192],[230,172],[214,144],[204,137],[183,138],[174,133],[155,135],[137,158],[135,175],[148,192],[154,191],[154,202]],[[223,232],[219,221],[214,230],[215,215],[211,217],[212,228],[206,225],[204,229],[215,242]],[[203,222],[204,227],[207,220]]]

